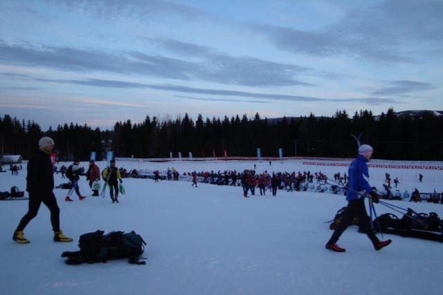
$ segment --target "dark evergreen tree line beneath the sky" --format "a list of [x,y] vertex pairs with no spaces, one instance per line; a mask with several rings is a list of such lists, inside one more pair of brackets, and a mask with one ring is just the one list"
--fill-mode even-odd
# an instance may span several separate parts
[[62,161],[73,158],[87,161],[91,151],[96,160],[104,160],[107,151],[115,157],[177,158],[181,152],[187,158],[223,156],[353,158],[356,141],[374,148],[374,158],[385,160],[443,160],[443,117],[424,111],[420,115],[398,116],[392,108],[377,119],[371,111],[360,111],[352,117],[346,111],[336,111],[332,117],[283,117],[262,119],[258,113],[223,119],[203,118],[194,122],[188,113],[182,118],[170,115],[162,118],[146,116],[143,122],[116,122],[113,130],[64,124],[44,132],[35,122],[25,122],[10,115],[0,116],[1,155],[21,155],[30,158],[42,136],[55,140],[55,150]]

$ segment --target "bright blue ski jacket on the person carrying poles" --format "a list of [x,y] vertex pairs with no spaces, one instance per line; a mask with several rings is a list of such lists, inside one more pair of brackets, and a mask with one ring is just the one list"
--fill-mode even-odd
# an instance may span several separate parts
[[368,162],[369,160],[363,157],[363,155],[357,155],[357,158],[350,164],[348,169],[349,189],[347,190],[346,200],[364,198],[365,195],[372,191],[368,182],[369,172],[368,164],[366,164]]

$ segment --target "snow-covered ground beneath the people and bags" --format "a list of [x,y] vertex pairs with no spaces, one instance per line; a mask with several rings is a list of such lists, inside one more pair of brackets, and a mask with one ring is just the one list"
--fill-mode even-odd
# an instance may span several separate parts
[[[60,165],[63,163],[60,163]],[[70,164],[70,163],[67,163]],[[177,171],[243,171],[257,164],[257,172],[323,171],[331,179],[345,167],[306,166],[300,161],[269,162],[122,162],[130,170],[174,166]],[[98,162],[100,169],[105,162]],[[87,169],[87,162],[81,166]],[[401,191],[443,191],[443,171],[370,168],[370,184],[381,187],[384,174],[424,182],[402,182]],[[408,177],[406,177],[408,176]],[[55,175],[55,185],[66,182]],[[356,227],[345,231],[338,245],[345,253],[325,249],[329,224],[345,206],[344,196],[330,193],[278,191],[277,197],[244,198],[240,187],[127,178],[120,204],[109,197],[92,197],[85,178],[80,191],[87,199],[65,202],[67,190],[55,189],[61,227],[70,243],[53,242],[48,209],[24,233],[19,245],[12,233],[26,213],[28,201],[0,202],[0,294],[438,294],[443,291],[443,244],[385,234],[389,247],[375,251]],[[0,191],[26,187],[26,163],[19,175],[0,173]],[[26,193],[27,196],[27,193]],[[109,192],[107,193],[109,196]],[[386,201],[417,212],[436,212],[443,204]],[[376,204],[377,214],[400,213]],[[78,237],[96,231],[136,231],[147,246],[146,265],[111,260],[93,265],[66,265],[63,251],[77,251]],[[379,235],[379,238],[381,236]]]

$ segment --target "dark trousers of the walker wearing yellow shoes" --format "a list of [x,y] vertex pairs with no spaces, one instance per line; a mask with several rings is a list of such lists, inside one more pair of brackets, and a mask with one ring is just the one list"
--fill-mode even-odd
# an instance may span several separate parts
[[53,226],[53,231],[60,231],[60,209],[53,192],[51,192],[51,195],[49,196],[40,196],[38,193],[29,193],[28,213],[21,218],[16,231],[23,231],[30,220],[33,220],[33,218],[37,216],[42,202],[51,212],[51,225]]

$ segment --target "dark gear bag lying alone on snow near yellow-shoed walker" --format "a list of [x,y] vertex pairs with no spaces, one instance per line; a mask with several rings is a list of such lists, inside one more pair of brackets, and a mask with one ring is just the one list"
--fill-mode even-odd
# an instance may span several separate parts
[[146,242],[134,231],[125,234],[124,231],[95,231],[82,234],[78,242],[80,251],[65,251],[62,257],[68,265],[79,265],[81,263],[106,263],[107,260],[128,258],[128,262],[136,265],[144,265],[143,258]]

